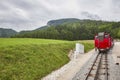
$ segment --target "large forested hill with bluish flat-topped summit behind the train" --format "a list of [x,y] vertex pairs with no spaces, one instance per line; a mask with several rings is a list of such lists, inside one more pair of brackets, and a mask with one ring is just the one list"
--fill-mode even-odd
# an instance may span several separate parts
[[108,32],[114,38],[120,38],[120,22],[79,19],[52,20],[45,27],[20,33],[13,37],[88,40],[93,39],[98,32]]

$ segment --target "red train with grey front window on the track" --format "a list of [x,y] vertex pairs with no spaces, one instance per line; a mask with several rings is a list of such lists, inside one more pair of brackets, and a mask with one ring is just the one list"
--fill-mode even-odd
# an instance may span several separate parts
[[106,32],[100,32],[94,37],[94,43],[95,43],[95,50],[99,50],[99,52],[107,51],[109,50],[114,42],[113,38],[110,36],[110,34]]

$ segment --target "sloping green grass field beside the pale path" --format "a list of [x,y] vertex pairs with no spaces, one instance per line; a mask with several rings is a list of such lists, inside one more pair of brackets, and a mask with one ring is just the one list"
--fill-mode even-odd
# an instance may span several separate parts
[[92,41],[0,38],[0,80],[38,80],[68,63],[75,43],[93,48]]

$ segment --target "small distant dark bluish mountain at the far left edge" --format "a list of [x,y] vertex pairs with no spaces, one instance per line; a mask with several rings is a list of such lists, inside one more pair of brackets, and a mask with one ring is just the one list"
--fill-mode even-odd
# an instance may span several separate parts
[[0,37],[10,37],[17,34],[13,29],[0,28]]

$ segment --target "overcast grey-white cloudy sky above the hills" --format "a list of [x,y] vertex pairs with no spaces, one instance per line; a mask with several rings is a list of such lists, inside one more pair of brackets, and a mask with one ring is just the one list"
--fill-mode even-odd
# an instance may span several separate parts
[[0,0],[0,28],[33,30],[62,18],[120,21],[120,0]]

